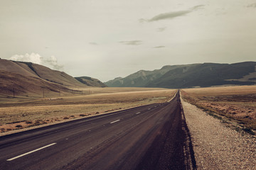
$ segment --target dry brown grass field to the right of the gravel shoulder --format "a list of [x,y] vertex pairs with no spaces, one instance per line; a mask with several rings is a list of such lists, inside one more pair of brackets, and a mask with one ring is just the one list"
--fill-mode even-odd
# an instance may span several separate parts
[[[223,123],[238,123],[242,130],[256,130],[256,86],[223,86],[183,89],[183,98]],[[239,129],[237,129],[239,130]]]

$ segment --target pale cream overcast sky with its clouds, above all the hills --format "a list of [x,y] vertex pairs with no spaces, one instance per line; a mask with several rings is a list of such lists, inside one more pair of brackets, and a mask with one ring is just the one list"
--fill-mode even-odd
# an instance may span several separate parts
[[0,0],[0,57],[108,81],[256,61],[256,0]]

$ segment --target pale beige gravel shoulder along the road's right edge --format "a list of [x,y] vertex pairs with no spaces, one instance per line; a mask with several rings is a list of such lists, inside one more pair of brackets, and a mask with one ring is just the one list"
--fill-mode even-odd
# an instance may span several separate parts
[[256,139],[181,98],[198,169],[256,169]]

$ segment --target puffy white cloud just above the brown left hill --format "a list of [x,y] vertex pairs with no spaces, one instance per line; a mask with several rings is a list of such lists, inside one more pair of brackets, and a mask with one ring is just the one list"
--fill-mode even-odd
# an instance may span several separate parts
[[10,60],[15,60],[18,62],[33,62],[35,64],[43,64],[53,69],[62,70],[63,65],[58,64],[58,60],[55,56],[42,57],[37,53],[32,52],[31,54],[26,53],[26,55],[13,55]]

